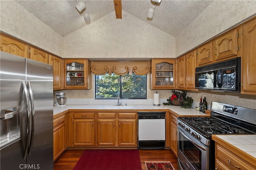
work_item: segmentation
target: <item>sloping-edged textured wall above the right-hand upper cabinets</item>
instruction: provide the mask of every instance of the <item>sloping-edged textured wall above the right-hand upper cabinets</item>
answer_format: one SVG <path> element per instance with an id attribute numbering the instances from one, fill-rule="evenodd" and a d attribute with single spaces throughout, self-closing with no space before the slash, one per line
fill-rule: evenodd
<path id="1" fill-rule="evenodd" d="M 176 37 L 176 57 L 256 14 L 256 0 L 214 0 Z"/>

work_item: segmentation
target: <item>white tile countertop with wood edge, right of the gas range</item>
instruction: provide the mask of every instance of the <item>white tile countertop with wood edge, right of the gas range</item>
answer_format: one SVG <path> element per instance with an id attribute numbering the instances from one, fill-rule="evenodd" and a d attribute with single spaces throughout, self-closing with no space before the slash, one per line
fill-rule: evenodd
<path id="1" fill-rule="evenodd" d="M 212 139 L 220 145 L 230 144 L 235 149 L 256 158 L 256 135 L 212 135 Z"/>

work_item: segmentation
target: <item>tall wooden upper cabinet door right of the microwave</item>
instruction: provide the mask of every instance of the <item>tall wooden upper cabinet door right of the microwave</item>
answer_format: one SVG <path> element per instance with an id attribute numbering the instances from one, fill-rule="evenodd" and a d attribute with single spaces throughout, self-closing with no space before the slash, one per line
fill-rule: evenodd
<path id="1" fill-rule="evenodd" d="M 256 19 L 242 25 L 241 93 L 256 94 Z"/>

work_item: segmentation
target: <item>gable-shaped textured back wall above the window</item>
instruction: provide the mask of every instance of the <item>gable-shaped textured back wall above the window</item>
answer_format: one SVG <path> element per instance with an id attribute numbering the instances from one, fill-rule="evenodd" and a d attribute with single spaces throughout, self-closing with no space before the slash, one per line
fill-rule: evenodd
<path id="1" fill-rule="evenodd" d="M 175 38 L 122 11 L 115 12 L 66 35 L 62 57 L 175 58 Z"/>

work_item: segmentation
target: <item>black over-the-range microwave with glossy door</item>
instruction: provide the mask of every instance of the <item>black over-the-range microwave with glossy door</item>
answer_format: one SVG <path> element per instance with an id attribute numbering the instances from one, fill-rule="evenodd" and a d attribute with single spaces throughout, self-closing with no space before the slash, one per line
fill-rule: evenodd
<path id="1" fill-rule="evenodd" d="M 196 67 L 196 88 L 223 92 L 241 91 L 241 57 Z"/>

